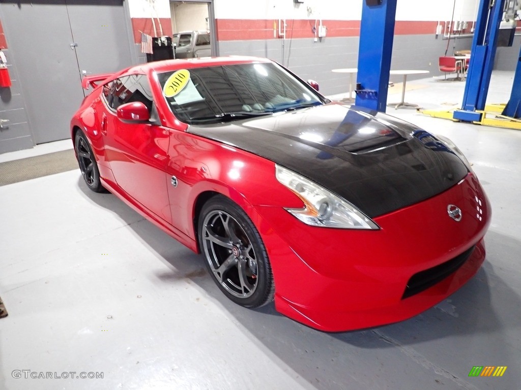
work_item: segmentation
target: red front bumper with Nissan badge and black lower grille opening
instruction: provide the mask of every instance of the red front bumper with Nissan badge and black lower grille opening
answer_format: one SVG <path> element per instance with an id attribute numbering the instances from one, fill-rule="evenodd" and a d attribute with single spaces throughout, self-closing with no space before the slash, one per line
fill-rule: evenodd
<path id="1" fill-rule="evenodd" d="M 448 215 L 449 204 L 461 209 L 460 222 Z M 380 230 L 311 227 L 280 207 L 255 210 L 274 274 L 277 310 L 323 331 L 401 321 L 442 301 L 483 263 L 482 238 L 491 217 L 473 174 L 435 197 L 375 218 Z M 412 281 L 420 287 L 422 278 L 435 284 L 407 294 L 415 275 Z"/>

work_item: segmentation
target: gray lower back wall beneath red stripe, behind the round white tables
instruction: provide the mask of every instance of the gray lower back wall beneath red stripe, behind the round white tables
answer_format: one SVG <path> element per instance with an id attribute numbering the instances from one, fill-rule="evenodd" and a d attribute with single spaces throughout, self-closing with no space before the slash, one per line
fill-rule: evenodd
<path id="1" fill-rule="evenodd" d="M 291 45 L 291 49 L 290 49 Z M 447 55 L 454 50 L 470 49 L 472 38 L 457 38 L 449 43 Z M 438 58 L 443 56 L 447 40 L 434 35 L 396 35 L 393 43 L 392 69 L 421 69 L 438 76 Z M 319 42 L 300 38 L 281 40 L 221 41 L 221 56 L 247 55 L 267 57 L 277 61 L 304 80 L 313 79 L 325 95 L 339 94 L 348 90 L 349 75 L 332 73 L 336 68 L 356 68 L 358 65 L 358 37 L 325 37 Z M 282 53 L 284 52 L 284 55 Z M 289 61 L 288 61 L 289 57 Z M 401 76 L 391 81 L 400 82 Z M 425 75 L 416 76 L 416 79 Z M 414 76 L 407 80 L 414 80 Z"/>

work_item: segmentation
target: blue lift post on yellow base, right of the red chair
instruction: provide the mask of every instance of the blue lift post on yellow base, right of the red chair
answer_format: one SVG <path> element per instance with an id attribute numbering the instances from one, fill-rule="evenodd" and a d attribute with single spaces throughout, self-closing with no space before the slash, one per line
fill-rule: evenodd
<path id="1" fill-rule="evenodd" d="M 504 4 L 505 0 L 481 0 L 479 4 L 472 61 L 468 68 L 462 109 L 454 111 L 453 118 L 456 120 L 481 121 L 483 113 L 476 110 L 485 109 Z"/>

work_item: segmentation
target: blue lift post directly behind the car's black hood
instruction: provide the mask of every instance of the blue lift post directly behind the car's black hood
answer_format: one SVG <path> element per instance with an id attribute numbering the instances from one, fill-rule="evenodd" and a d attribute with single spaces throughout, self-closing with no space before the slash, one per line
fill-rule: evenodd
<path id="1" fill-rule="evenodd" d="M 356 105 L 385 112 L 397 0 L 362 2 Z"/>

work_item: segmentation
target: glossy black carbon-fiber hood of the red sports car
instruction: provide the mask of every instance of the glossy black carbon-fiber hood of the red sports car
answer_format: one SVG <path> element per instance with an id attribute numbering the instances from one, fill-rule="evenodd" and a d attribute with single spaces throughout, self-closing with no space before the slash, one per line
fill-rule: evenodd
<path id="1" fill-rule="evenodd" d="M 191 125 L 188 132 L 287 167 L 371 218 L 435 196 L 468 173 L 431 134 L 389 115 L 338 103 Z"/>

